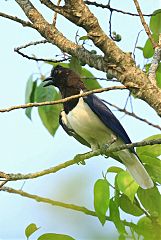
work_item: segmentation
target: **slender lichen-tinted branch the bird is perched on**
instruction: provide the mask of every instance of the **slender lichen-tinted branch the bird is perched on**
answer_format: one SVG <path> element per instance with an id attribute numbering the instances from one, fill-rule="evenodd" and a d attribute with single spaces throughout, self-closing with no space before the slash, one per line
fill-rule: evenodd
<path id="1" fill-rule="evenodd" d="M 74 159 L 66 161 L 64 163 L 61 163 L 55 167 L 51 167 L 49 169 L 42 170 L 40 172 L 36 173 L 27 173 L 27 174 L 14 174 L 14 173 L 4 173 L 0 172 L 0 178 L 7 181 L 17 181 L 17 180 L 24 180 L 24 179 L 33 179 L 38 178 L 50 173 L 56 173 L 64 168 L 67 168 L 71 165 L 74 165 L 76 163 L 83 163 L 85 160 L 91 159 L 92 157 L 98 156 L 98 155 L 104 155 L 104 156 L 110 156 L 111 153 L 117 152 L 123 149 L 131 149 L 134 147 L 141 147 L 141 146 L 147 146 L 147 145 L 156 145 L 161 144 L 161 139 L 156 140 L 149 140 L 149 141 L 141 141 L 131 144 L 123 144 L 117 147 L 113 147 L 112 145 L 110 147 L 103 147 L 103 149 L 98 149 L 96 151 L 87 152 L 84 154 L 78 154 L 74 157 Z"/>

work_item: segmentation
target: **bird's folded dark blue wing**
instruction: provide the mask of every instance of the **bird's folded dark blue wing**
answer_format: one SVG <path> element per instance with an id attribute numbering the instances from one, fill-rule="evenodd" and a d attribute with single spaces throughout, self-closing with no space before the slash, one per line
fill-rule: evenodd
<path id="1" fill-rule="evenodd" d="M 99 99 L 96 95 L 92 94 L 84 97 L 84 101 L 92 109 L 92 111 L 99 117 L 99 119 L 111 129 L 117 137 L 120 137 L 124 143 L 131 143 L 125 129 L 122 127 L 119 120 L 111 112 L 111 110 Z"/>

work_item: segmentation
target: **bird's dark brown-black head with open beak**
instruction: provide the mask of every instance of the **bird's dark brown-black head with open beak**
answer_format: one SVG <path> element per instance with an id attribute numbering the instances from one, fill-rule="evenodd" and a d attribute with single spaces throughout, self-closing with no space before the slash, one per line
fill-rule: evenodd
<path id="1" fill-rule="evenodd" d="M 44 87 L 54 85 L 59 88 L 61 93 L 66 89 L 80 90 L 85 88 L 80 77 L 74 71 L 60 65 L 53 67 L 50 77 L 46 78 L 44 82 L 46 82 Z"/>

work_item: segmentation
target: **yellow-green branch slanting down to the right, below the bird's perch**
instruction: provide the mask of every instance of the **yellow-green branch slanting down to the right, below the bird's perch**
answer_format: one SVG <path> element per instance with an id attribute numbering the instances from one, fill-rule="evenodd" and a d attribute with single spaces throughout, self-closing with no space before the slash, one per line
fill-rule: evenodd
<path id="1" fill-rule="evenodd" d="M 78 206 L 78 205 L 75 205 L 75 204 L 68 204 L 68 203 L 64 203 L 64 202 L 54 201 L 54 200 L 49 199 L 49 198 L 40 197 L 38 195 L 33 195 L 33 194 L 30 194 L 30 193 L 24 192 L 22 190 L 16 190 L 16 189 L 9 188 L 9 187 L 2 187 L 0 189 L 0 191 L 18 194 L 18 195 L 21 195 L 22 197 L 27 197 L 27 198 L 33 199 L 37 202 L 43 202 L 43 203 L 50 204 L 52 206 L 63 207 L 63 208 L 66 208 L 66 209 L 82 212 L 82 213 L 85 213 L 85 214 L 93 216 L 93 217 L 97 217 L 96 212 L 94 212 L 92 210 L 89 210 L 86 207 Z M 113 221 L 108 216 L 106 216 L 106 220 L 107 221 Z M 127 222 L 125 220 L 123 220 L 122 223 L 125 226 L 132 226 L 132 225 L 135 226 L 134 223 Z"/>

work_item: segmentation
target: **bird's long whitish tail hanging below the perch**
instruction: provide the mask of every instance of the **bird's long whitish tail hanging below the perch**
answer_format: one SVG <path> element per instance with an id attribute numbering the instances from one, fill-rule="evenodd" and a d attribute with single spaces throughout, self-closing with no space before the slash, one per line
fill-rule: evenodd
<path id="1" fill-rule="evenodd" d="M 127 149 L 122 150 L 119 152 L 119 157 L 141 188 L 148 189 L 154 186 L 151 177 L 134 153 L 129 152 Z"/>

